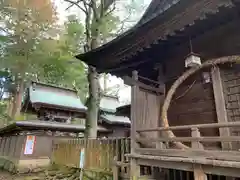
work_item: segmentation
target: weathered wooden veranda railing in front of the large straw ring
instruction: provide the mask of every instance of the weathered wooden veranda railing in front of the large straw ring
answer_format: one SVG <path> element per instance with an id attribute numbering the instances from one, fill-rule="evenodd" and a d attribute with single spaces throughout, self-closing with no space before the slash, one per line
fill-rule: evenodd
<path id="1" fill-rule="evenodd" d="M 191 131 L 190 137 L 159 137 L 159 138 L 136 138 L 138 143 L 144 144 L 144 142 L 155 142 L 156 148 L 136 148 L 136 153 L 141 155 L 152 155 L 152 156 L 167 156 L 166 161 L 184 161 L 184 162 L 196 162 L 201 164 L 212 164 L 219 166 L 229 166 L 229 161 L 238 163 L 231 163 L 231 165 L 240 168 L 240 152 L 239 148 L 232 148 L 232 143 L 240 142 L 240 136 L 201 136 L 201 130 L 207 128 L 236 128 L 240 127 L 240 122 L 229 122 L 229 123 L 213 123 L 213 124 L 198 124 L 198 125 L 185 125 L 185 126 L 174 126 L 174 127 L 157 127 L 149 129 L 138 129 L 137 132 L 162 132 L 164 131 Z M 187 149 L 177 149 L 171 144 L 173 142 L 189 143 L 190 147 Z M 216 149 L 206 149 L 203 146 L 204 143 L 221 143 L 224 147 L 224 143 L 228 143 L 229 149 L 224 149 L 219 146 Z M 157 145 L 158 144 L 158 145 Z M 172 158 L 174 157 L 174 159 Z M 156 157 L 154 157 L 156 158 Z M 160 158 L 160 157 L 159 157 Z M 161 159 L 160 158 L 160 159 Z M 197 159 L 196 159 L 197 158 Z M 213 161 L 214 160 L 214 161 Z M 228 161 L 228 162 L 223 162 Z"/>

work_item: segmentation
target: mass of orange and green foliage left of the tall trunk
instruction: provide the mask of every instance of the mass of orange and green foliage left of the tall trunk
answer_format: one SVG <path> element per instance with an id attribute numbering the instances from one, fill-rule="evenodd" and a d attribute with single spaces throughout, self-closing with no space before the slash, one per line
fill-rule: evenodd
<path id="1" fill-rule="evenodd" d="M 11 92 L 16 91 L 19 80 L 25 84 L 35 80 L 74 87 L 86 96 L 85 67 L 72 60 L 81 51 L 84 38 L 83 25 L 76 16 L 69 16 L 62 28 L 55 23 L 51 1 L 10 0 L 0 2 L 0 18 L 4 32 L 0 36 L 0 66 L 11 72 L 15 84 Z"/>

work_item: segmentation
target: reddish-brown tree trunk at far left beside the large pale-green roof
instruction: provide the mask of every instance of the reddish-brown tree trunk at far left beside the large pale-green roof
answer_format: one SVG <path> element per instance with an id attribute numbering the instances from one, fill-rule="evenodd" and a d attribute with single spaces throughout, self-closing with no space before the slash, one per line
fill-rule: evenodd
<path id="1" fill-rule="evenodd" d="M 11 113 L 11 118 L 13 120 L 15 120 L 20 115 L 23 90 L 24 90 L 24 81 L 23 79 L 20 79 L 18 83 L 18 87 L 16 88 L 16 91 L 13 95 L 13 104 L 12 104 L 12 113 Z"/>

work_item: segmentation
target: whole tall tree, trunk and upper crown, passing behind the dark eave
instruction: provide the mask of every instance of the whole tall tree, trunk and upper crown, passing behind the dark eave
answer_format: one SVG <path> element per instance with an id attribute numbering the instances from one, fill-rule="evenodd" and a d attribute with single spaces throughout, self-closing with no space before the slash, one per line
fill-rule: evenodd
<path id="1" fill-rule="evenodd" d="M 121 18 L 119 14 L 114 14 L 116 10 L 116 0 L 65 1 L 70 3 L 69 7 L 76 6 L 79 8 L 79 11 L 85 15 L 85 41 L 83 43 L 85 52 L 96 49 L 98 46 L 105 44 L 107 41 L 119 35 L 118 32 L 122 32 Z M 118 31 L 119 28 L 120 31 Z M 97 122 L 102 91 L 99 82 L 100 76 L 98 76 L 94 68 L 88 67 L 87 77 L 89 82 L 89 96 L 86 102 L 88 113 L 85 124 L 85 136 L 86 138 L 93 138 L 97 136 Z M 105 90 L 106 88 L 104 86 L 104 91 Z"/>

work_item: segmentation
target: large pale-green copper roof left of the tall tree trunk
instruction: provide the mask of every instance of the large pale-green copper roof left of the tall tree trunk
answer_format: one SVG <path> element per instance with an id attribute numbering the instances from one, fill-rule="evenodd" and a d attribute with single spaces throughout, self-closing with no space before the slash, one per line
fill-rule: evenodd
<path id="1" fill-rule="evenodd" d="M 76 91 L 39 82 L 32 82 L 29 86 L 23 105 L 27 106 L 28 102 L 32 105 L 37 104 L 54 109 L 60 108 L 77 112 L 86 112 L 87 110 Z"/>

